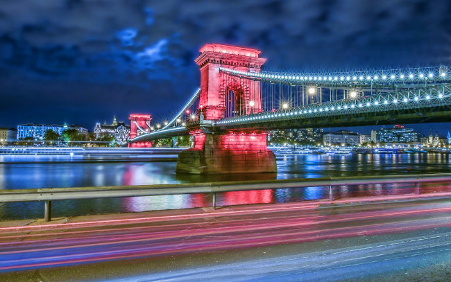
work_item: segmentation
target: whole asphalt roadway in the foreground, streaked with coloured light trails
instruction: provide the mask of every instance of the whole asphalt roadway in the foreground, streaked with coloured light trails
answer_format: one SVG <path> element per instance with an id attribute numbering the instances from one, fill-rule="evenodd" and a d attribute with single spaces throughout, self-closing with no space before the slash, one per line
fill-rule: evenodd
<path id="1" fill-rule="evenodd" d="M 447 281 L 450 212 L 400 196 L 0 222 L 0 281 Z"/>

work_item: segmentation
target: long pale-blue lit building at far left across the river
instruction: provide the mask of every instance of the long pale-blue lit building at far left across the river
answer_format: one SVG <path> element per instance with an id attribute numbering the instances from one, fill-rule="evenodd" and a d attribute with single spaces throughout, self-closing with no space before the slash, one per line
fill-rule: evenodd
<path id="1" fill-rule="evenodd" d="M 58 125 L 58 124 L 34 124 L 26 123 L 17 125 L 17 140 L 32 137 L 33 140 L 42 141 L 47 130 L 53 130 L 58 134 L 62 134 L 65 130 L 77 130 L 80 134 L 87 134 L 87 129 L 81 125 Z"/>

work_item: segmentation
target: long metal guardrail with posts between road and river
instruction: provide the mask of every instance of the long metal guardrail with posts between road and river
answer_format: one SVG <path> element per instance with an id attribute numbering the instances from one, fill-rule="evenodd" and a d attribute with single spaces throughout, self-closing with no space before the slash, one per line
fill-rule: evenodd
<path id="1" fill-rule="evenodd" d="M 200 184 L 162 184 L 142 186 L 100 186 L 75 188 L 37 188 L 0 191 L 0 202 L 45 201 L 44 220 L 51 220 L 51 201 L 80 200 L 107 197 L 139 197 L 211 193 L 216 208 L 216 193 L 282 188 L 329 187 L 329 200 L 333 200 L 333 187 L 343 185 L 414 183 L 419 193 L 421 182 L 451 182 L 451 173 L 431 175 L 389 175 L 372 177 L 322 177 L 244 182 L 211 182 Z"/>

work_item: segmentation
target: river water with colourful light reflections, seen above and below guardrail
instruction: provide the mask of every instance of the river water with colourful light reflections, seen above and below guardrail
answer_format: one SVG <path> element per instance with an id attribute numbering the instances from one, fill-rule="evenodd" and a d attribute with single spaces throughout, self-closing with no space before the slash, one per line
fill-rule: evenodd
<path id="1" fill-rule="evenodd" d="M 81 186 L 122 186 L 174 184 L 187 182 L 237 181 L 252 179 L 290 179 L 327 176 L 402 175 L 448 173 L 448 154 L 381 155 L 277 155 L 278 173 L 216 175 L 201 177 L 176 175 L 176 153 L 110 156 L 0 156 L 0 189 L 53 188 Z M 339 186 L 334 197 L 394 195 L 413 193 L 411 184 Z M 443 184 L 425 184 L 422 191 L 451 191 Z M 327 198 L 327 188 L 273 189 L 221 193 L 218 205 L 296 202 Z M 203 194 L 153 197 L 124 197 L 96 200 L 52 202 L 53 217 L 185 209 L 211 206 Z M 0 203 L 0 220 L 42 218 L 42 202 Z"/>

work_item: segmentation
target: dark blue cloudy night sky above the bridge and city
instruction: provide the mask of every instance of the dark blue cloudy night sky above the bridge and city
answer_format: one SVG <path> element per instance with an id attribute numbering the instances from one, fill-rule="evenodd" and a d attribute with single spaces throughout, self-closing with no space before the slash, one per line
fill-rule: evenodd
<path id="1" fill-rule="evenodd" d="M 257 48 L 266 70 L 451 65 L 450 23 L 445 0 L 1 0 L 0 127 L 169 119 L 206 43 Z"/>

